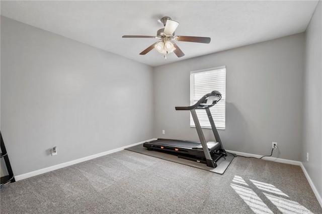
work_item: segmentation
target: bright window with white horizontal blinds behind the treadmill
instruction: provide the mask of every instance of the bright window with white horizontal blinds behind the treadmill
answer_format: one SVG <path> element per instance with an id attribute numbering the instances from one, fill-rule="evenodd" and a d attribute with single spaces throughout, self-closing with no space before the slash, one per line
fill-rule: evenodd
<path id="1" fill-rule="evenodd" d="M 212 118 L 217 129 L 225 129 L 226 108 L 226 66 L 209 68 L 190 73 L 190 104 L 195 104 L 203 95 L 217 90 L 221 93 L 221 99 L 210 108 Z M 200 126 L 210 128 L 205 110 L 196 110 Z M 190 127 L 195 127 L 190 115 Z"/>

